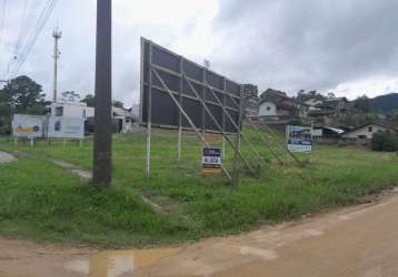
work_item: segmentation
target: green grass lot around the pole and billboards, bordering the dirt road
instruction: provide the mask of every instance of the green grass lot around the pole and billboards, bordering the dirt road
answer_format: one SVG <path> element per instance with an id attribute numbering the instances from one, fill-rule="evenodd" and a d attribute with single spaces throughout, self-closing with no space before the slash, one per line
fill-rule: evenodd
<path id="1" fill-rule="evenodd" d="M 250 130 L 247 134 L 272 160 Z M 240 184 L 230 195 L 225 176 L 200 173 L 201 145 L 190 136 L 183 140 L 182 161 L 178 163 L 177 135 L 155 133 L 149 178 L 145 174 L 145 134 L 116 136 L 110 191 L 90 188 L 86 181 L 49 162 L 56 158 L 90 168 L 90 142 L 82 147 L 72 143 L 49 146 L 44 142 L 30 147 L 1 141 L 1 151 L 29 155 L 0 165 L 0 234 L 111 248 L 169 245 L 241 233 L 261 224 L 356 204 L 394 187 L 398 179 L 398 157 L 394 153 L 316 146 L 312 162 L 305 167 L 296 166 L 285 155 L 283 161 L 290 161 L 285 166 L 261 163 L 258 178 L 240 168 Z M 215 140 L 219 137 L 211 138 L 212 145 L 220 145 Z M 256 156 L 246 144 L 242 152 L 255 165 Z M 228 168 L 232 154 L 227 147 Z M 142 195 L 167 213 L 153 209 Z"/>

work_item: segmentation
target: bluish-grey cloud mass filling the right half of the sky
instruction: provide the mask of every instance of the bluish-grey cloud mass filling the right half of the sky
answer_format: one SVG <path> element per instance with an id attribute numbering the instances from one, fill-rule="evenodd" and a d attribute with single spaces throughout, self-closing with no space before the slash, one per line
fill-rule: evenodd
<path id="1" fill-rule="evenodd" d="M 397 74 L 397 1 L 221 0 L 215 24 L 225 42 L 218 52 L 223 54 L 215 57 L 228 68 L 228 55 L 238 54 L 237 78 L 292 93 L 327 92 L 341 83 Z M 358 93 L 346 91 L 351 98 Z"/>

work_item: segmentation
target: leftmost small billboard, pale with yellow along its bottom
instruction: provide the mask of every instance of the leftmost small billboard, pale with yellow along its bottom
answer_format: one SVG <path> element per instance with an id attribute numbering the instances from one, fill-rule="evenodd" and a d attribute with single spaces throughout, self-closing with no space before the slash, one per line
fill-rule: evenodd
<path id="1" fill-rule="evenodd" d="M 36 138 L 43 135 L 43 120 L 40 115 L 14 114 L 12 134 L 16 137 Z"/>

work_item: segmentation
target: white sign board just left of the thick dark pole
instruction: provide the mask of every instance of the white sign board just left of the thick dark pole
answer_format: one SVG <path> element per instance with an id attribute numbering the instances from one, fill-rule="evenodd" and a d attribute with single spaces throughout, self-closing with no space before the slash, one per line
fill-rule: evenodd
<path id="1" fill-rule="evenodd" d="M 84 120 L 50 117 L 48 136 L 53 138 L 84 138 Z"/>

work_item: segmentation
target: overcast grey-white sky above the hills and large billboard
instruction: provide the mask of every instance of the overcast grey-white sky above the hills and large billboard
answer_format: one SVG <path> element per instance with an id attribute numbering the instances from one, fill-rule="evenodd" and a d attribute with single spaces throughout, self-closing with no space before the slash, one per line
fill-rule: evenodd
<path id="1" fill-rule="evenodd" d="M 23 45 L 48 2 L 0 0 L 0 9 L 3 1 L 0 79 L 19 33 Z M 212 70 L 260 91 L 318 90 L 350 99 L 398 92 L 397 0 L 113 0 L 113 96 L 127 105 L 139 102 L 140 37 L 198 63 L 210 60 Z M 58 25 L 59 90 L 93 93 L 94 11 L 94 0 L 60 0 L 19 74 L 50 98 Z"/>

